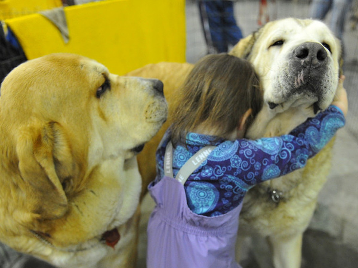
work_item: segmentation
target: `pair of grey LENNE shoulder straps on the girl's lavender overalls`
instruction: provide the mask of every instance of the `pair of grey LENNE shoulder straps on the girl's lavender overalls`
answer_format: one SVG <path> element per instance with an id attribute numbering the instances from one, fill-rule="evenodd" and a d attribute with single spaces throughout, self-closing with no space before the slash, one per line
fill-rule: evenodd
<path id="1" fill-rule="evenodd" d="M 196 152 L 189 160 L 183 165 L 183 167 L 176 174 L 175 179 L 178 180 L 181 184 L 187 181 L 189 176 L 197 169 L 207 158 L 208 155 L 214 150 L 216 146 L 205 146 Z M 168 177 L 173 176 L 173 145 L 169 141 L 166 145 L 165 155 L 164 155 L 164 175 Z"/>

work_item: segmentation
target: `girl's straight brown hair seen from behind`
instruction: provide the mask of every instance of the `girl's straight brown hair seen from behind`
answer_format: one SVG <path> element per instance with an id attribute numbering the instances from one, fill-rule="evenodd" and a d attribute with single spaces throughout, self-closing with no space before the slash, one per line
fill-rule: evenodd
<path id="1" fill-rule="evenodd" d="M 225 138 L 248 109 L 252 113 L 246 127 L 262 108 L 259 79 L 252 65 L 228 54 L 200 59 L 176 93 L 171 109 L 173 144 L 185 144 L 187 133 L 199 124 Z"/>

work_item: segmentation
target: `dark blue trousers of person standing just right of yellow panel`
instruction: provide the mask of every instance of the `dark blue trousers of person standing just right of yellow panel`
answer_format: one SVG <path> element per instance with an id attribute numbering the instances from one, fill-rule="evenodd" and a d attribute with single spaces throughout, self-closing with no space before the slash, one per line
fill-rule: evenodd
<path id="1" fill-rule="evenodd" d="M 227 52 L 242 38 L 232 1 L 199 1 L 199 11 L 209 53 Z"/>

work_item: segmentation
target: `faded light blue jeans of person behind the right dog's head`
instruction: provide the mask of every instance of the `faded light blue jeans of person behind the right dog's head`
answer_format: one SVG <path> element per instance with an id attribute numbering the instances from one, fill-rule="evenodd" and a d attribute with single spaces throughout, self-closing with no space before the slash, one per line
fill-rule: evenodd
<path id="1" fill-rule="evenodd" d="M 313 0 L 310 17 L 323 20 L 328 11 L 332 10 L 332 18 L 328 26 L 335 36 L 342 40 L 345 19 L 351 4 L 352 0 Z"/>

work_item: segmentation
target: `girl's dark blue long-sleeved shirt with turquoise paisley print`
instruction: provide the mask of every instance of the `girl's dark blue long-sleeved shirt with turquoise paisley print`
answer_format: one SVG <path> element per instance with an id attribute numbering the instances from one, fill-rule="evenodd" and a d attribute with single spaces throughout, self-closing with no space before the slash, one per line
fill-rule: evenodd
<path id="1" fill-rule="evenodd" d="M 209 217 L 224 214 L 237 207 L 254 185 L 304 167 L 344 124 L 342 112 L 331 105 L 280 137 L 227 141 L 188 133 L 187 145 L 178 145 L 173 151 L 174 177 L 199 149 L 216 145 L 207 160 L 190 175 L 184 188 L 188 206 L 194 213 Z M 163 160 L 169 140 L 170 129 L 156 153 L 156 181 L 164 176 Z"/>

